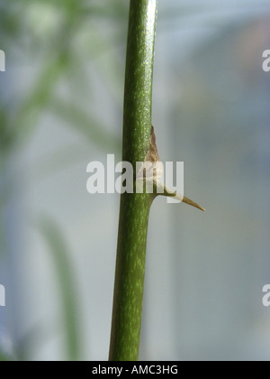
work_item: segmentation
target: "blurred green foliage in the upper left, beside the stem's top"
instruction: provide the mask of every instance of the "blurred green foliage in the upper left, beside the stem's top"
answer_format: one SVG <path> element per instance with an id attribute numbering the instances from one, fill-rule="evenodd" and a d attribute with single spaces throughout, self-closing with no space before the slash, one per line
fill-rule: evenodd
<path id="1" fill-rule="evenodd" d="M 4 1 L 0 13 L 0 45 L 7 55 L 9 67 L 13 61 L 32 61 L 35 79 L 27 94 L 7 94 L 1 104 L 1 152 L 28 138 L 42 113 L 66 116 L 63 107 L 67 99 L 58 95 L 59 87 L 69 87 L 72 121 L 69 125 L 90 135 L 103 147 L 119 145 L 119 137 L 108 135 L 101 122 L 96 123 L 91 113 L 80 109 L 82 97 L 91 99 L 91 82 L 85 70 L 90 62 L 110 49 L 122 45 L 126 25 L 127 5 L 122 1 Z M 102 33 L 103 23 L 112 25 L 110 42 Z M 91 63 L 91 64 L 92 64 Z M 106 75 L 115 78 L 112 72 Z M 102 69 L 99 66 L 99 69 Z M 103 75 L 103 73 L 101 73 Z M 85 80 L 86 79 L 86 80 Z M 4 87 L 4 86 L 3 86 Z M 3 90 L 4 88 L 2 88 Z M 55 98 L 56 97 L 56 98 Z"/>

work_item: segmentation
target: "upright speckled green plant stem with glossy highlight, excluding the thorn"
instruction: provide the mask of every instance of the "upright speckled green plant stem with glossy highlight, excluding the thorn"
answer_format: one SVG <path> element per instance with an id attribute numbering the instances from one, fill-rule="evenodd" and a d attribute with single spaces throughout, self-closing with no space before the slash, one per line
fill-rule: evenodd
<path id="1" fill-rule="evenodd" d="M 130 0 L 122 160 L 142 162 L 151 133 L 156 0 Z M 121 195 L 112 308 L 110 360 L 137 360 L 142 314 L 148 214 L 153 194 Z"/>

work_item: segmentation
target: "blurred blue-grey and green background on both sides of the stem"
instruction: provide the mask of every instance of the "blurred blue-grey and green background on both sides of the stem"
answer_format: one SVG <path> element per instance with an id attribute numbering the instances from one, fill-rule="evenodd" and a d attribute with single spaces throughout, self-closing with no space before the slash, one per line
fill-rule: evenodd
<path id="1" fill-rule="evenodd" d="M 86 166 L 121 161 L 128 0 L 1 0 L 0 355 L 106 360 L 119 195 Z M 141 360 L 268 360 L 268 0 L 159 0 L 152 119 L 184 194 L 155 200 Z M 161 221 L 162 220 L 162 221 Z"/>

